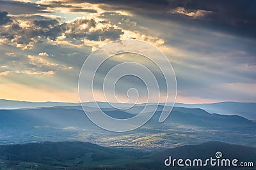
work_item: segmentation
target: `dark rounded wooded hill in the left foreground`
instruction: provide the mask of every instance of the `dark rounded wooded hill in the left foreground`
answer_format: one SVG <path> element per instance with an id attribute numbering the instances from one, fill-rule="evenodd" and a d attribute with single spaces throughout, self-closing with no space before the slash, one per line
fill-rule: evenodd
<path id="1" fill-rule="evenodd" d="M 115 159 L 122 154 L 116 150 L 83 142 L 44 142 L 0 146 L 0 159 L 51 164 L 90 156 L 92 160 Z"/>

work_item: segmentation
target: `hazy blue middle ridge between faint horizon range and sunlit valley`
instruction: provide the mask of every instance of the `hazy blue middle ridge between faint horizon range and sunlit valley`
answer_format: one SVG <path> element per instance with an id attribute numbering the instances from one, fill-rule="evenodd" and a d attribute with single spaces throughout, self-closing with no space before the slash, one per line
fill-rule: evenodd
<path id="1" fill-rule="evenodd" d="M 194 125 L 199 127 L 213 128 L 256 128 L 256 122 L 248 120 L 240 116 L 211 114 L 207 111 L 195 108 L 173 108 L 172 113 L 163 124 L 159 124 L 159 116 L 161 115 L 161 106 L 157 108 L 156 113 L 146 124 L 151 127 L 161 127 L 162 125 L 181 124 Z M 110 110 L 103 108 L 104 112 L 114 118 L 130 118 L 134 114 L 125 111 Z M 97 114 L 97 111 L 95 111 Z M 145 113 L 147 114 L 147 113 Z M 99 117 L 101 118 L 101 117 Z M 83 110 L 79 110 L 76 106 L 69 107 L 53 107 L 53 108 L 29 108 L 22 110 L 0 110 L 0 127 L 1 129 L 9 129 L 13 131 L 21 131 L 22 129 L 30 129 L 34 126 L 50 125 L 52 127 L 79 127 L 79 128 L 95 128 L 96 126 L 86 117 Z M 164 127 L 163 127 L 164 128 Z"/>

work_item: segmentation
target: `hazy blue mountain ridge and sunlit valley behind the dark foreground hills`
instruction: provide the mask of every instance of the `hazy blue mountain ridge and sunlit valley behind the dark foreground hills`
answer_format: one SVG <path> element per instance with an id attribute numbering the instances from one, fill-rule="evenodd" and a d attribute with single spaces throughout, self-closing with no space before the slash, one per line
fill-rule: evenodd
<path id="1" fill-rule="evenodd" d="M 102 110 L 114 118 L 130 118 L 141 108 L 143 106 L 122 111 L 113 108 Z M 95 108 L 91 108 L 95 111 L 93 109 Z M 211 114 L 198 108 L 175 107 L 166 121 L 160 124 L 159 116 L 162 109 L 163 106 L 157 106 L 156 113 L 147 124 L 136 131 L 122 134 L 97 127 L 86 117 L 81 106 L 0 110 L 0 144 L 78 140 L 104 146 L 154 150 L 220 140 L 256 146 L 256 122 L 252 120 L 237 115 Z"/>

